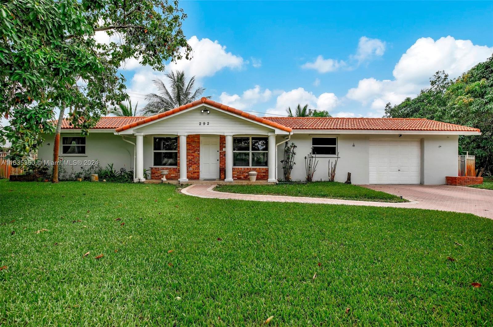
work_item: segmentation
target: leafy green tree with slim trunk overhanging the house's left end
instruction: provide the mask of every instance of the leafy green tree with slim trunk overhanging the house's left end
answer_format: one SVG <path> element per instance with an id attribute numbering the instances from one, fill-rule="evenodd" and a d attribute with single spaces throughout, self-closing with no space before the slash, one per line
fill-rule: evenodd
<path id="1" fill-rule="evenodd" d="M 170 2 L 171 1 L 171 2 Z M 181 30 L 177 0 L 11 0 L 0 4 L 0 129 L 19 159 L 42 144 L 59 110 L 53 159 L 68 109 L 71 124 L 87 135 L 107 105 L 125 100 L 118 68 L 129 58 L 162 71 L 164 62 L 191 48 Z M 110 37 L 99 42 L 96 32 Z M 58 165 L 53 167 L 58 182 Z"/>

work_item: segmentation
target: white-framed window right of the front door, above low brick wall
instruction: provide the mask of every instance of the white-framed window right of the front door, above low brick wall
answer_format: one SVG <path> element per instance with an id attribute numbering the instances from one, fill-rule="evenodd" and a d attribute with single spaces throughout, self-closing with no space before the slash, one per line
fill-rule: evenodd
<path id="1" fill-rule="evenodd" d="M 267 167 L 268 138 L 234 137 L 233 166 Z"/>

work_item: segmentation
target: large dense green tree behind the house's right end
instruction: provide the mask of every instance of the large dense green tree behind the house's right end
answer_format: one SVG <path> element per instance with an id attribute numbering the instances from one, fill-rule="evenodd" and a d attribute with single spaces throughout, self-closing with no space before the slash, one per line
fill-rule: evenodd
<path id="1" fill-rule="evenodd" d="M 476 156 L 476 167 L 493 173 L 493 56 L 455 80 L 437 72 L 431 87 L 416 98 L 386 106 L 387 117 L 428 118 L 479 128 L 480 136 L 460 136 L 462 151 Z"/>

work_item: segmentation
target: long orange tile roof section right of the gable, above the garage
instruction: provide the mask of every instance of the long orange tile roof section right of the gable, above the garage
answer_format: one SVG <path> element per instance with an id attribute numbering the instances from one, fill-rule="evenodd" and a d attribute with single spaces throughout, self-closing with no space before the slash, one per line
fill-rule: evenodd
<path id="1" fill-rule="evenodd" d="M 451 131 L 480 132 L 479 129 L 425 118 L 317 118 L 264 117 L 270 121 L 297 129 L 320 130 L 381 130 L 381 131 Z"/>

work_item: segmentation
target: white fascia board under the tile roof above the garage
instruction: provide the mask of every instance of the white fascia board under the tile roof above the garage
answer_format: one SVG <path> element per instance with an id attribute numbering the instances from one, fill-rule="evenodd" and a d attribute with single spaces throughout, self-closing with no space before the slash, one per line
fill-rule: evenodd
<path id="1" fill-rule="evenodd" d="M 402 134 L 402 135 L 481 135 L 481 132 L 458 131 L 393 131 L 347 129 L 293 129 L 293 134 Z"/>

